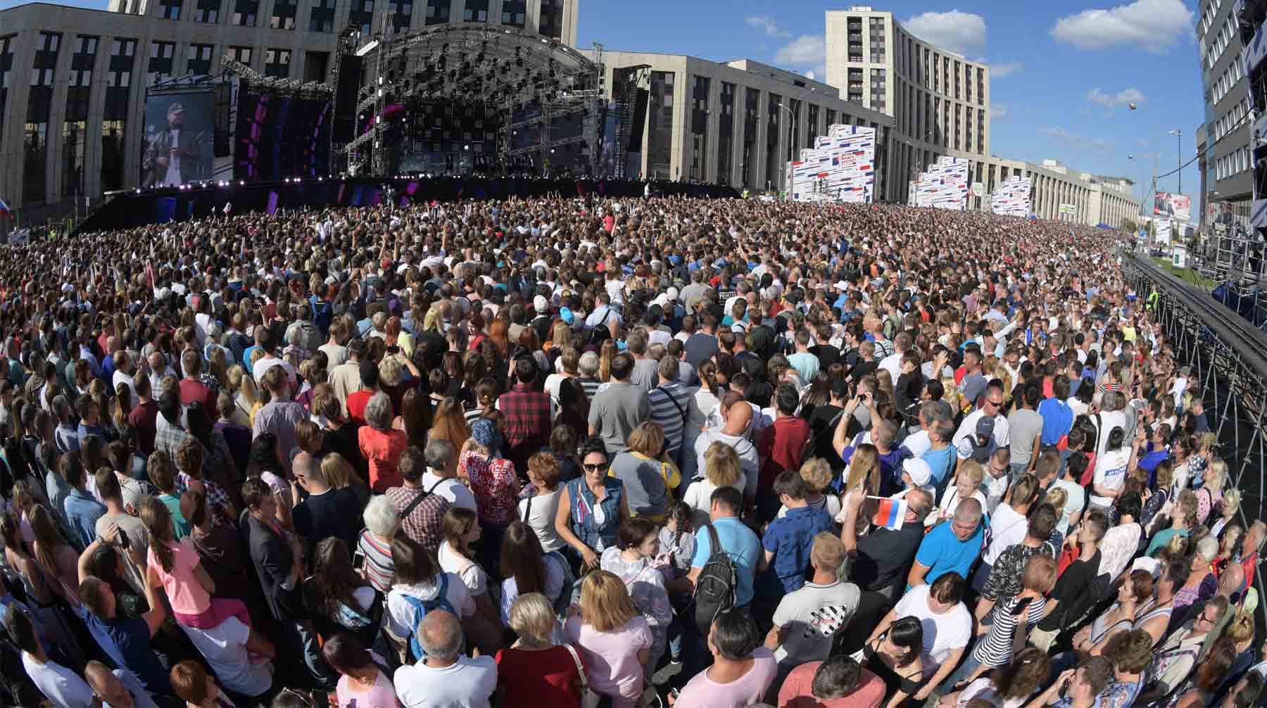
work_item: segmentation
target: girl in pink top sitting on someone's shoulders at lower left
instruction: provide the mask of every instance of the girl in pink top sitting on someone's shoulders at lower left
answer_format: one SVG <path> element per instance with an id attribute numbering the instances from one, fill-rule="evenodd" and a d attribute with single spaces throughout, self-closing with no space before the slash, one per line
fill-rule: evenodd
<path id="1" fill-rule="evenodd" d="M 167 505 L 155 496 L 141 500 L 141 523 L 150 533 L 148 583 L 162 585 L 171 603 L 176 621 L 196 629 L 213 629 L 229 616 L 236 616 L 247 627 L 251 618 L 242 600 L 212 599 L 215 581 L 201 565 L 198 550 L 190 537 L 176 542 Z"/>

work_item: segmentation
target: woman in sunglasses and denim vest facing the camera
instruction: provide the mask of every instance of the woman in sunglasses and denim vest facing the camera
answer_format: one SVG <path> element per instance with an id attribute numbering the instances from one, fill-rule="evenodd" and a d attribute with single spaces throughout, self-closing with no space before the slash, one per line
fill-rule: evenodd
<path id="1" fill-rule="evenodd" d="M 555 515 L 555 531 L 568 542 L 566 551 L 584 570 L 598 567 L 602 552 L 616 545 L 616 532 L 630 518 L 625 484 L 607 476 L 607 446 L 592 437 L 582 450 L 582 476 L 564 486 Z"/>

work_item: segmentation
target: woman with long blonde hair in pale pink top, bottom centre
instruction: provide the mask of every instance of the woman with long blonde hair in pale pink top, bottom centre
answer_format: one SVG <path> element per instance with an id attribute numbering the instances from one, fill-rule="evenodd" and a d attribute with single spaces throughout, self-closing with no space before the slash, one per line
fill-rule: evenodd
<path id="1" fill-rule="evenodd" d="M 564 636 L 580 648 L 589 688 L 609 697 L 613 708 L 632 708 L 642 695 L 651 628 L 634 608 L 625 583 L 606 570 L 582 581 L 578 609 L 564 623 Z"/>

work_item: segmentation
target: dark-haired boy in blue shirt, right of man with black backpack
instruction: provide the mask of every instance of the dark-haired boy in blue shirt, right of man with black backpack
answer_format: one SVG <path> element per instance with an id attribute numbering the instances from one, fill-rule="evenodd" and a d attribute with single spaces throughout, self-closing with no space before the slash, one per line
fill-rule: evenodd
<path id="1" fill-rule="evenodd" d="M 813 537 L 820 531 L 834 531 L 834 528 L 826 510 L 806 503 L 808 485 L 801 477 L 801 472 L 796 470 L 779 472 L 774 479 L 774 493 L 788 512 L 765 528 L 765 536 L 761 538 L 765 553 L 759 570 L 767 572 L 768 580 L 777 580 L 783 593 L 792 593 L 805 585 L 805 569 L 810 567 Z"/>

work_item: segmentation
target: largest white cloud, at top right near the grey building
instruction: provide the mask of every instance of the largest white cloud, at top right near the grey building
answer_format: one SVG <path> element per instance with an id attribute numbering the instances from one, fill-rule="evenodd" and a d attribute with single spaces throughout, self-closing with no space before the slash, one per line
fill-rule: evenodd
<path id="1" fill-rule="evenodd" d="M 1192 23 L 1194 13 L 1183 0 L 1135 0 L 1060 18 L 1050 34 L 1079 49 L 1129 47 L 1161 54 L 1187 37 Z"/>

